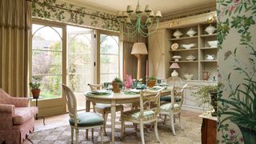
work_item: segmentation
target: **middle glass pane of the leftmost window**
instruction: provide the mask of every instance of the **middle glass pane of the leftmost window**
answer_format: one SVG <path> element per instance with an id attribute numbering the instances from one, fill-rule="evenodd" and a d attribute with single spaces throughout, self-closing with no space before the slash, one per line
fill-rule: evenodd
<path id="1" fill-rule="evenodd" d="M 62 74 L 62 53 L 52 51 L 32 51 L 32 75 Z"/>

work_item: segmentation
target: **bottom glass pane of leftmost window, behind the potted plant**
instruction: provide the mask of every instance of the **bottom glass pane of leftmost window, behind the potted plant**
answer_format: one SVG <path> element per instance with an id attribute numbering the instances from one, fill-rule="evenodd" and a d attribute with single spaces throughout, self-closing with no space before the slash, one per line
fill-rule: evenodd
<path id="1" fill-rule="evenodd" d="M 62 97 L 62 89 L 60 83 L 62 83 L 62 75 L 54 76 L 32 76 L 33 79 L 37 79 L 40 82 L 41 92 L 40 95 L 44 98 L 60 98 Z"/>

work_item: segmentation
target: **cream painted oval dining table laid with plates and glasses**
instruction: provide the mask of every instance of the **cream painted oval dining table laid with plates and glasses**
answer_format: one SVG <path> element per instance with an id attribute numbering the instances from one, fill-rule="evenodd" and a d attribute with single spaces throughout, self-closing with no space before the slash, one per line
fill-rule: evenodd
<path id="1" fill-rule="evenodd" d="M 161 96 L 166 96 L 170 94 L 170 90 L 162 90 Z M 118 104 L 127 104 L 133 102 L 139 102 L 140 94 L 125 94 L 125 92 L 113 93 L 110 94 L 89 94 L 85 93 L 86 96 L 86 112 L 90 111 L 90 102 L 95 103 L 104 103 L 111 105 L 111 143 L 114 143 L 115 135 L 115 116 L 116 116 L 116 105 Z M 149 95 L 150 96 L 150 95 Z M 88 130 L 86 130 L 86 138 L 88 138 Z"/>

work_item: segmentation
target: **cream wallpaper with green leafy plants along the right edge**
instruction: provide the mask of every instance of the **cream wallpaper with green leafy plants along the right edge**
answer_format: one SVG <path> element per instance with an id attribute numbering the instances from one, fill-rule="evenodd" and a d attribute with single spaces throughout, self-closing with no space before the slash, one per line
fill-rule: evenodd
<path id="1" fill-rule="evenodd" d="M 256 0 L 218 0 L 218 143 L 256 142 Z"/>

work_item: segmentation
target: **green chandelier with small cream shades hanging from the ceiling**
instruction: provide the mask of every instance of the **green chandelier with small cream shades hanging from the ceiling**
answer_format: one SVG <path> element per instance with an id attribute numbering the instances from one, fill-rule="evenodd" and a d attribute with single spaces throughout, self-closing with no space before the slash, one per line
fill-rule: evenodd
<path id="1" fill-rule="evenodd" d="M 127 33 L 123 32 L 124 34 L 134 37 L 137 34 L 141 34 L 143 37 L 147 37 L 150 34 L 153 34 L 157 29 L 158 29 L 158 24 L 159 24 L 159 19 L 162 17 L 161 11 L 158 10 L 156 14 L 154 15 L 154 11 L 151 10 L 149 5 L 146 5 L 145 8 L 145 13 L 146 13 L 146 21 L 142 22 L 142 7 L 139 5 L 139 0 L 138 0 L 138 5 L 135 10 L 136 14 L 136 19 L 133 20 L 132 18 L 132 13 L 134 10 L 132 10 L 132 6 L 127 6 L 126 11 L 118 11 L 118 24 L 122 24 L 126 27 Z M 156 21 L 157 26 L 155 29 L 148 33 L 147 30 L 152 26 L 154 19 Z"/>

